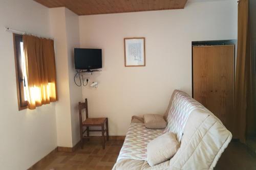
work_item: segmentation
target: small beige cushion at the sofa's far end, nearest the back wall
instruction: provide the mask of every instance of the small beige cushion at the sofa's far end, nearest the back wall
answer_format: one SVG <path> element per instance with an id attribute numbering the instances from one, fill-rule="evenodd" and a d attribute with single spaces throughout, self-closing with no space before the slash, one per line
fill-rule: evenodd
<path id="1" fill-rule="evenodd" d="M 148 129 L 163 129 L 167 125 L 163 116 L 159 114 L 144 114 L 144 123 Z"/>

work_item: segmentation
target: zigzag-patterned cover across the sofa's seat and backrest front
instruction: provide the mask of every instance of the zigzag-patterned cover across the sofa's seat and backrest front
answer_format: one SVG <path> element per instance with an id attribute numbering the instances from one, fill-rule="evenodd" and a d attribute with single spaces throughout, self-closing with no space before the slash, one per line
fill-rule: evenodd
<path id="1" fill-rule="evenodd" d="M 167 116 L 167 127 L 165 129 L 147 129 L 144 124 L 131 124 L 117 161 L 120 159 L 146 160 L 147 143 L 165 132 L 175 133 L 180 142 L 190 113 L 195 109 L 208 111 L 183 91 L 175 90 L 173 95 L 173 102 Z M 210 111 L 208 112 L 211 114 Z"/>

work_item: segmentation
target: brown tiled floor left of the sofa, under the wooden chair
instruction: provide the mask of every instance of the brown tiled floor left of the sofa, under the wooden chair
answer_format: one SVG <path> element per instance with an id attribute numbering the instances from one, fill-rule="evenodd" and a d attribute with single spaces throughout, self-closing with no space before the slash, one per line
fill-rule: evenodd
<path id="1" fill-rule="evenodd" d="M 103 150 L 101 140 L 91 139 L 84 141 L 83 149 L 79 146 L 73 153 L 56 152 L 34 169 L 111 170 L 122 144 L 123 140 L 110 140 Z"/>

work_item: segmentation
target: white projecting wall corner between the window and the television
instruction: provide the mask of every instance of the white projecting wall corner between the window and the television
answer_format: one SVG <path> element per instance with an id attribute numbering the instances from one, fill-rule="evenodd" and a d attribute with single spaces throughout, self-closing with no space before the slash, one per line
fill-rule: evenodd
<path id="1" fill-rule="evenodd" d="M 74 83 L 74 47 L 79 47 L 78 15 L 67 8 L 50 9 L 51 34 L 55 40 L 57 87 L 57 144 L 73 147 L 80 139 L 78 102 L 82 89 Z"/>

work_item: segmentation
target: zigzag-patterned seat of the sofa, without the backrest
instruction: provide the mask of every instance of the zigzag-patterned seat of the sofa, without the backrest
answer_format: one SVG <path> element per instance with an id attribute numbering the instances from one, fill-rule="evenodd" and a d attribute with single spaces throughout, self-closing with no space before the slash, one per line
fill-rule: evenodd
<path id="1" fill-rule="evenodd" d="M 122 149 L 119 153 L 119 159 L 146 160 L 147 143 L 163 134 L 164 129 L 147 129 L 144 124 L 131 124 Z"/>

